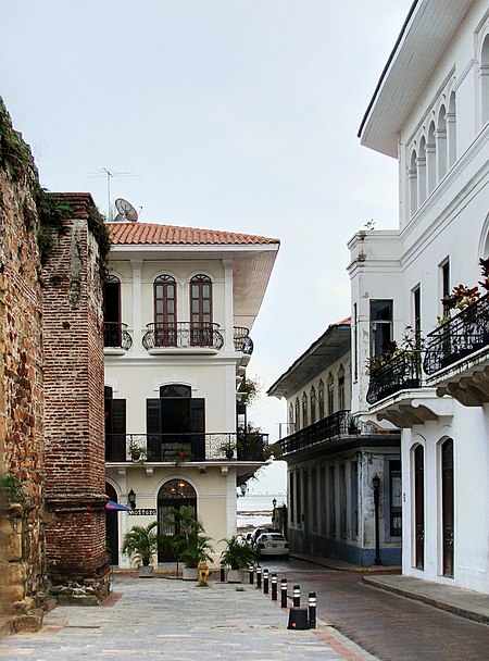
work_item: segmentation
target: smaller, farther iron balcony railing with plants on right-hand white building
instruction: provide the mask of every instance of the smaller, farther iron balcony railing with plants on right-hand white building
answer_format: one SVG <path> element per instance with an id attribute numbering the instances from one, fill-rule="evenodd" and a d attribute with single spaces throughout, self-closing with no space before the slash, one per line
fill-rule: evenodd
<path id="1" fill-rule="evenodd" d="M 421 372 L 421 351 L 401 351 L 371 374 L 367 402 L 375 404 L 400 390 L 419 388 Z"/>

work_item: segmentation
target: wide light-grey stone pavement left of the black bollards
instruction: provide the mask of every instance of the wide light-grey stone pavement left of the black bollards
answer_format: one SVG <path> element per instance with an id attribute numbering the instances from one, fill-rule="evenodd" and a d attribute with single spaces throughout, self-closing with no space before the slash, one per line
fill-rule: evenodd
<path id="1" fill-rule="evenodd" d="M 55 608 L 37 634 L 0 640 L 0 659 L 374 660 L 325 623 L 287 629 L 288 611 L 251 585 L 115 576 L 103 606 Z"/>

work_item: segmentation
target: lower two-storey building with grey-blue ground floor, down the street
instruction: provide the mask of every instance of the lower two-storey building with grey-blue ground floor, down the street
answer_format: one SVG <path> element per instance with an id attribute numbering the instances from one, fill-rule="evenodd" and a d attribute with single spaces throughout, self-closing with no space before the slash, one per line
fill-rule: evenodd
<path id="1" fill-rule="evenodd" d="M 288 539 L 294 553 L 401 563 L 400 435 L 350 414 L 350 319 L 328 326 L 269 387 L 284 398 Z"/>

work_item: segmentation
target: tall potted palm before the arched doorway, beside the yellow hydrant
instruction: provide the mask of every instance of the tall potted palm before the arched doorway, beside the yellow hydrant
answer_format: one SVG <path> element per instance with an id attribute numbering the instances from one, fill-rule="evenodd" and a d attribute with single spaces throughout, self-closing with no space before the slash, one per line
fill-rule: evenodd
<path id="1" fill-rule="evenodd" d="M 177 563 L 184 563 L 184 581 L 197 581 L 200 562 L 212 560 L 212 538 L 204 534 L 203 525 L 197 519 L 191 506 L 170 511 L 175 523 L 176 533 L 168 541 L 177 557 Z M 178 564 L 177 564 L 178 575 Z"/>

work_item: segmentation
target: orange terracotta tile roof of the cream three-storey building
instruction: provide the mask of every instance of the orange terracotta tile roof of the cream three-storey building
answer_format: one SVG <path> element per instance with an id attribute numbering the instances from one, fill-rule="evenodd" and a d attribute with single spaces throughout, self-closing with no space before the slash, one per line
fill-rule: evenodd
<path id="1" fill-rule="evenodd" d="M 221 232 L 198 229 L 197 227 L 176 227 L 155 223 L 108 223 L 111 241 L 114 245 L 208 245 L 244 246 L 258 244 L 279 244 L 279 239 Z"/>

